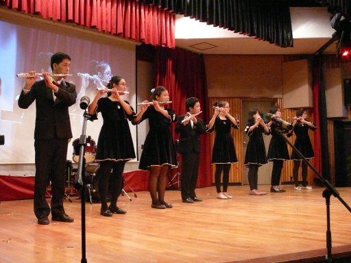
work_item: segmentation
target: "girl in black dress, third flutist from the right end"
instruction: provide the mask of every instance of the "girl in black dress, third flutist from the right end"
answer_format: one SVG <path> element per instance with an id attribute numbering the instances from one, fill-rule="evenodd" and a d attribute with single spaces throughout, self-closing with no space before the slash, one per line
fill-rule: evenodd
<path id="1" fill-rule="evenodd" d="M 263 118 L 261 118 L 261 114 L 257 109 L 250 110 L 245 133 L 250 137 L 250 140 L 247 143 L 244 162 L 244 166 L 249 168 L 249 195 L 265 195 L 267 192 L 257 189 L 257 174 L 258 167 L 268 163 L 265 142 L 263 141 L 262 134 L 265 133 L 266 135 L 269 135 L 269 129 L 263 122 Z"/>

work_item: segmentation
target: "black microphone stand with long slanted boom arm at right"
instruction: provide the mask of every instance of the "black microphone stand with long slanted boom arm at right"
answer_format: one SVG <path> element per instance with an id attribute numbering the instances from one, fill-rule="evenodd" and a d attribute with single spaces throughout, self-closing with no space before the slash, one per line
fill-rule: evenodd
<path id="1" fill-rule="evenodd" d="M 304 163 L 310 166 L 312 171 L 315 172 L 317 177 L 323 182 L 324 186 L 326 186 L 326 190 L 324 190 L 322 194 L 322 197 L 326 199 L 326 249 L 327 249 L 326 260 L 327 262 L 332 262 L 332 232 L 330 230 L 330 196 L 333 195 L 334 197 L 337 197 L 337 199 L 341 201 L 341 203 L 346 207 L 347 210 L 349 210 L 349 212 L 351 212 L 351 208 L 345 201 L 343 201 L 343 199 L 339 195 L 339 192 L 334 188 L 334 186 L 332 186 L 332 184 L 330 184 L 328 180 L 324 179 L 322 175 L 318 173 L 315 167 L 313 167 L 313 165 L 310 164 L 310 162 L 308 162 L 306 158 L 304 158 L 304 155 L 302 155 L 302 153 L 300 153 L 300 151 L 296 149 L 295 146 L 293 146 L 293 144 L 282 134 L 282 132 L 280 132 L 278 128 L 276 128 L 276 132 L 282 138 L 284 138 L 287 144 L 290 145 L 291 148 L 293 148 L 295 153 L 297 153 L 300 156 L 300 158 L 304 161 Z"/>

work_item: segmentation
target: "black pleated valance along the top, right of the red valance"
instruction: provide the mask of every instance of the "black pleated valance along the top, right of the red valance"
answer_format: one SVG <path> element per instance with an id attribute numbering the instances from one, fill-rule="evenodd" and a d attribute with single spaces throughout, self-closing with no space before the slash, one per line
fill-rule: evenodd
<path id="1" fill-rule="evenodd" d="M 293 47 L 289 6 L 284 0 L 140 1 L 280 47 Z"/>

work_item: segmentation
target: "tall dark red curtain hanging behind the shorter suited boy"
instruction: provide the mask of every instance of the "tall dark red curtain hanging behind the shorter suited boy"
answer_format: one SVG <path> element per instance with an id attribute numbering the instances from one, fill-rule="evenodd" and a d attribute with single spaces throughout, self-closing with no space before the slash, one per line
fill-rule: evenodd
<path id="1" fill-rule="evenodd" d="M 199 117 L 207 124 L 208 96 L 203 55 L 182 49 L 157 47 L 154 64 L 155 86 L 167 88 L 169 98 L 173 101 L 169 107 L 175 110 L 177 115 L 185 114 L 186 98 L 197 97 L 202 108 L 202 114 Z M 175 125 L 172 126 L 173 138 L 178 139 L 179 135 L 174 134 L 174 127 Z M 212 186 L 210 136 L 202 136 L 201 148 L 197 187 Z"/>

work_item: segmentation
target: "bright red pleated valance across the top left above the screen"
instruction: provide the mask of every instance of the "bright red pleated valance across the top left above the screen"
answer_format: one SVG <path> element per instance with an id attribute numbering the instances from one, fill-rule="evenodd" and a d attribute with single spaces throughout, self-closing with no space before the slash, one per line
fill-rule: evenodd
<path id="1" fill-rule="evenodd" d="M 145 44 L 175 47 L 175 14 L 138 0 L 0 0 L 0 4 Z"/>

